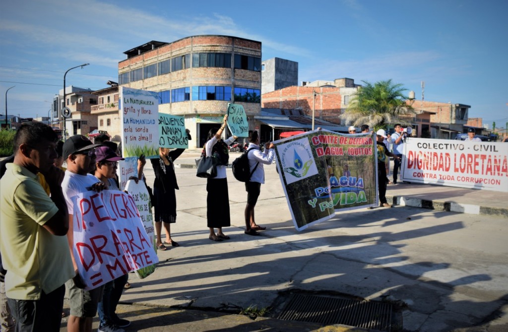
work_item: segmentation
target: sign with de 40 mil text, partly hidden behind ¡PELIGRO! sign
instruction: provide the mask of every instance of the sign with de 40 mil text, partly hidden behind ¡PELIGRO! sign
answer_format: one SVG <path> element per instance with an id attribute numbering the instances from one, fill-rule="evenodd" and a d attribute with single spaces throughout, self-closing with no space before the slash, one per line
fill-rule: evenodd
<path id="1" fill-rule="evenodd" d="M 143 226 L 145 227 L 146 234 L 150 239 L 149 242 L 152 244 L 153 250 L 156 252 L 155 247 L 155 229 L 153 228 L 153 215 L 152 205 L 150 203 L 150 195 L 146 189 L 146 184 L 143 180 L 139 180 L 138 183 L 134 180 L 129 180 L 125 186 L 125 190 L 133 197 L 138 208 L 139 216 Z M 136 275 L 143 279 L 149 276 L 155 271 L 155 264 L 136 270 Z"/>

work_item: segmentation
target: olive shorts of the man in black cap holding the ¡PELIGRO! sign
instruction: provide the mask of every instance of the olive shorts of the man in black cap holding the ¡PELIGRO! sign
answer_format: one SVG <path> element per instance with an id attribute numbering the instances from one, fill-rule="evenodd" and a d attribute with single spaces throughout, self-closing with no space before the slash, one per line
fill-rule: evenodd
<path id="1" fill-rule="evenodd" d="M 102 300 L 104 285 L 91 290 L 85 290 L 76 287 L 72 279 L 65 283 L 69 290 L 69 303 L 71 315 L 76 317 L 95 317 L 97 315 L 97 306 Z"/>

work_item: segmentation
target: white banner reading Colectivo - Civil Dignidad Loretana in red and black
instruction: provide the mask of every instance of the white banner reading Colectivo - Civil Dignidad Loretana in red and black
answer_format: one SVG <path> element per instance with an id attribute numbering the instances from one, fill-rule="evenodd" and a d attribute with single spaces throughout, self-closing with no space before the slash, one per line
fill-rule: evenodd
<path id="1" fill-rule="evenodd" d="M 508 144 L 408 138 L 402 180 L 508 192 Z"/>

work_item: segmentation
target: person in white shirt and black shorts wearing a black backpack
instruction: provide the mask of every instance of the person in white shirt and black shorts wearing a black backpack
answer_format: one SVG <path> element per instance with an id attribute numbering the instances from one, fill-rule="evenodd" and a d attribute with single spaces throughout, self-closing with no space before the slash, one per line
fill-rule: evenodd
<path id="1" fill-rule="evenodd" d="M 259 235 L 258 230 L 265 230 L 266 227 L 261 227 L 256 224 L 254 218 L 254 208 L 258 202 L 258 197 L 261 191 L 261 184 L 265 183 L 265 169 L 263 164 L 271 164 L 275 156 L 273 150 L 273 143 L 267 143 L 265 151 L 261 152 L 259 149 L 259 133 L 253 130 L 249 134 L 249 147 L 247 149 L 247 157 L 249 159 L 250 179 L 245 182 L 245 191 L 247 191 L 247 205 L 245 206 L 245 234 Z"/>

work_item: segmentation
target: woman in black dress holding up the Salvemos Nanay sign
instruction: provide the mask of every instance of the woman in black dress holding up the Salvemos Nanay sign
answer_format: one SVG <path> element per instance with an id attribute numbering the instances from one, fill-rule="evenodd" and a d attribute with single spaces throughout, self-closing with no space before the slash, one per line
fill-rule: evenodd
<path id="1" fill-rule="evenodd" d="M 185 129 L 188 140 L 190 138 L 190 130 Z M 162 243 L 161 231 L 162 225 L 166 229 L 166 244 L 173 247 L 180 245 L 171 239 L 170 225 L 176 222 L 176 194 L 175 189 L 178 188 L 176 183 L 174 160 L 178 158 L 185 149 L 170 150 L 169 148 L 159 148 L 159 157 L 150 159 L 153 172 L 155 173 L 155 181 L 153 182 L 153 196 L 155 198 L 155 235 L 157 240 L 155 245 L 158 250 L 165 251 L 167 248 Z"/>

